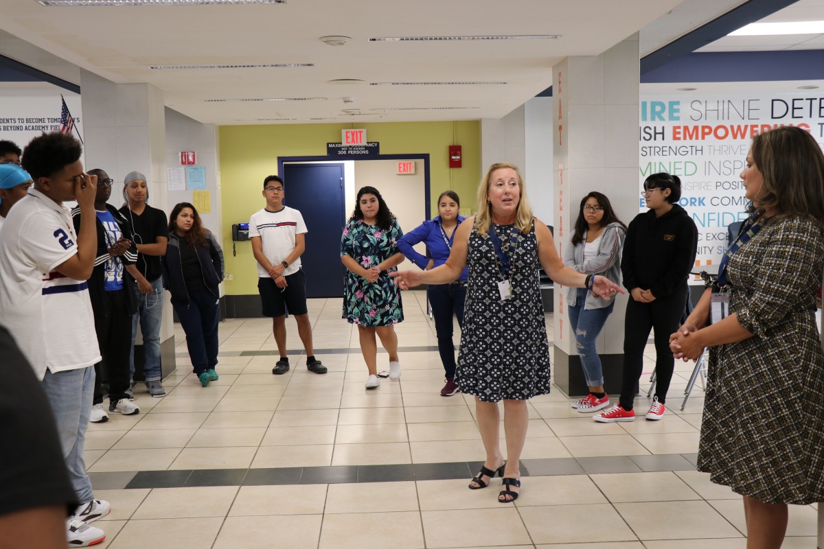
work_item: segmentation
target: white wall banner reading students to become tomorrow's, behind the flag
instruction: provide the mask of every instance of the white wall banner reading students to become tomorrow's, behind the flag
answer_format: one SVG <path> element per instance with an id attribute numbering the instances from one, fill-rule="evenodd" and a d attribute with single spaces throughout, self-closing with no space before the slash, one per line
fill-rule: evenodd
<path id="1" fill-rule="evenodd" d="M 74 125 L 83 134 L 80 95 L 56 86 L 0 88 L 0 139 L 21 149 L 41 133 L 60 131 L 60 113 L 66 100 Z M 77 137 L 77 132 L 72 135 Z"/>

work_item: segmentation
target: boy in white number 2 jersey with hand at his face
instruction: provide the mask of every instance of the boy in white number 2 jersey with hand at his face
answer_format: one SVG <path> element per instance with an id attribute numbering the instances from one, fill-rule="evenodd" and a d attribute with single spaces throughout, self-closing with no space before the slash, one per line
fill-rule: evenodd
<path id="1" fill-rule="evenodd" d="M 43 383 L 57 421 L 63 457 L 81 505 L 68 519 L 73 547 L 101 542 L 89 526 L 111 510 L 95 500 L 83 449 L 95 369 L 101 360 L 87 280 L 97 247 L 97 178 L 83 173 L 80 142 L 65 133 L 35 137 L 23 155 L 35 184 L 9 212 L 0 231 L 0 323 L 16 339 Z M 75 232 L 64 201 L 83 215 Z"/>

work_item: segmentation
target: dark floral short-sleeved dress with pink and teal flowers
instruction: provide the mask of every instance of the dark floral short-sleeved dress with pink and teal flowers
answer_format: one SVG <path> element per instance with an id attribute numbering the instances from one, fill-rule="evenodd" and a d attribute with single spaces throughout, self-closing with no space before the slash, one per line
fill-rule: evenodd
<path id="1" fill-rule="evenodd" d="M 400 252 L 397 242 L 403 234 L 397 220 L 392 220 L 389 230 L 361 220 L 349 221 L 340 239 L 340 255 L 349 255 L 361 267 L 372 268 Z M 395 271 L 396 267 L 384 271 L 377 282 L 370 283 L 347 270 L 342 318 L 362 326 L 391 326 L 403 322 L 400 289 L 389 277 L 389 273 Z"/>

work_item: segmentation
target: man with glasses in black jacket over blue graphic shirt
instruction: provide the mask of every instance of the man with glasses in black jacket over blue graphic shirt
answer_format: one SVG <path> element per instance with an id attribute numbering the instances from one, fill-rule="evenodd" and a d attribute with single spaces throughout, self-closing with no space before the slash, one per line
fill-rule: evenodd
<path id="1" fill-rule="evenodd" d="M 138 250 L 132 243 L 132 232 L 126 218 L 114 206 L 106 203 L 111 196 L 109 175 L 103 170 L 89 170 L 97 176 L 95 194 L 95 219 L 97 251 L 95 268 L 89 278 L 89 297 L 95 315 L 95 331 L 100 342 L 103 360 L 95 365 L 96 379 L 91 406 L 92 423 L 109 420 L 103 407 L 103 364 L 109 382 L 109 412 L 131 416 L 140 408 L 129 401 L 129 349 L 131 348 L 132 315 L 137 310 L 134 303 L 130 277 L 124 276 L 129 269 L 133 277 L 143 278 L 134 260 Z M 72 211 L 75 229 L 79 230 L 83 216 L 80 207 Z"/>

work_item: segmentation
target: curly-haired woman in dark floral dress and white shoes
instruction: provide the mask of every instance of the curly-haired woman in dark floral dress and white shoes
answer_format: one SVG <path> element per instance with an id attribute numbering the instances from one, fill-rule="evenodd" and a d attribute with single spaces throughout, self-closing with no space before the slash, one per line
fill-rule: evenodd
<path id="1" fill-rule="evenodd" d="M 397 244 L 403 234 L 377 188 L 361 188 L 340 239 L 340 260 L 349 269 L 344 280 L 343 318 L 358 326 L 361 352 L 369 370 L 366 388 L 381 384 L 377 377 L 376 334 L 389 353 L 389 379 L 400 379 L 394 325 L 403 322 L 404 309 L 400 290 L 389 273 L 404 260 Z"/>

